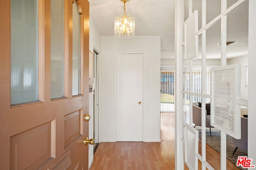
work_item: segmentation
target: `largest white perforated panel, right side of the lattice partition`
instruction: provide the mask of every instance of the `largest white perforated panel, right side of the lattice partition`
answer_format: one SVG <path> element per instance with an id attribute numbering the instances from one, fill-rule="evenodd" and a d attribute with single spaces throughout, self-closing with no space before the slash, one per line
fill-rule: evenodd
<path id="1" fill-rule="evenodd" d="M 228 135 L 240 138 L 240 66 L 212 68 L 211 125 Z"/>

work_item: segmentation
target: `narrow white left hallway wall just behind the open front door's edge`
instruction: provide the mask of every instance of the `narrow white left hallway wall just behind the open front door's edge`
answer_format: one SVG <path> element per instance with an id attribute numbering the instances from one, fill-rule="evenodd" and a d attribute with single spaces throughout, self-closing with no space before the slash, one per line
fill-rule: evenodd
<path id="1" fill-rule="evenodd" d="M 101 35 L 98 32 L 94 22 L 90 18 L 90 33 L 89 33 L 89 50 L 93 53 L 93 50 L 96 49 L 98 53 L 101 52 Z M 89 93 L 89 115 L 91 119 L 89 121 L 89 139 L 93 138 L 93 129 L 94 129 L 94 116 L 93 116 L 93 92 Z M 93 146 L 89 145 L 89 169 L 93 162 Z"/>

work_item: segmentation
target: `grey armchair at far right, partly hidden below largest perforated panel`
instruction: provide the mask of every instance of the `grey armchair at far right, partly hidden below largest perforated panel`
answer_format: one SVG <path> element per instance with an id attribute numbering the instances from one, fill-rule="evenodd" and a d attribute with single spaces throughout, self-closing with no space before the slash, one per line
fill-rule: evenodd
<path id="1" fill-rule="evenodd" d="M 241 139 L 235 139 L 232 137 L 232 142 L 236 146 L 233 154 L 238 148 L 242 150 L 248 150 L 248 118 L 241 117 Z M 232 155 L 233 155 L 232 154 Z"/>

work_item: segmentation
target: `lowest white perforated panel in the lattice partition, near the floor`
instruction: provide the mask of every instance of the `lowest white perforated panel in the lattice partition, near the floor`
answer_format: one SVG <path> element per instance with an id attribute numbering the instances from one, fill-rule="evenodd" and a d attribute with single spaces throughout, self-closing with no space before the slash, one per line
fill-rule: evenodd
<path id="1" fill-rule="evenodd" d="M 198 130 L 185 124 L 185 163 L 190 170 L 198 169 Z"/>

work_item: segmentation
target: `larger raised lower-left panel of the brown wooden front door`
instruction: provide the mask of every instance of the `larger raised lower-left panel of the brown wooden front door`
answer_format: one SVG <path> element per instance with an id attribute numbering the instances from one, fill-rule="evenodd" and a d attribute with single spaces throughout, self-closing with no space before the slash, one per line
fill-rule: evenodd
<path id="1" fill-rule="evenodd" d="M 36 169 L 55 157 L 55 121 L 39 125 L 10 139 L 10 169 Z"/>

